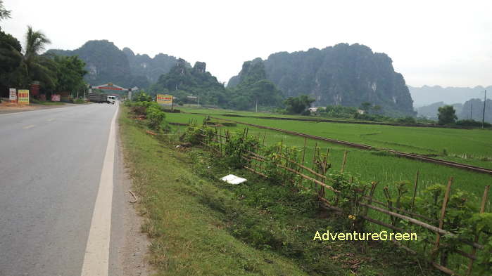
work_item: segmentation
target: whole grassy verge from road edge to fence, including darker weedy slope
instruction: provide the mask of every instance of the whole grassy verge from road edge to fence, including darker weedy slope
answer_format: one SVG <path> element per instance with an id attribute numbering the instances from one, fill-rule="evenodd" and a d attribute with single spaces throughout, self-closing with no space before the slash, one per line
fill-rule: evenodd
<path id="1" fill-rule="evenodd" d="M 201 150 L 177 151 L 146 134 L 127 110 L 119 119 L 125 162 L 157 275 L 436 275 L 384 242 L 366 254 L 357 253 L 356 243 L 313 242 L 315 230 L 343 230 L 343 222 L 317 209 L 309 195 L 214 166 Z M 225 173 L 248 183 L 218 181 Z"/>

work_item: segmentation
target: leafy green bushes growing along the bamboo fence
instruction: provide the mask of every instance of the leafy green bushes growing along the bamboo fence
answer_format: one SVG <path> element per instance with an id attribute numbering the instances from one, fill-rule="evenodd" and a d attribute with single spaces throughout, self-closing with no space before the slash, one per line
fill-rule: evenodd
<path id="1" fill-rule="evenodd" d="M 256 138 L 255 136 L 248 136 L 248 131 L 228 135 L 222 145 L 222 143 L 218 143 L 218 141 L 215 142 L 215 133 L 217 133 L 217 129 L 214 131 L 214 129 L 207 128 L 206 126 L 202 126 L 201 129 L 190 126 L 187 129 L 185 136 L 187 137 L 188 135 L 191 135 L 191 137 L 193 137 L 193 139 L 189 140 L 189 143 L 198 146 L 203 144 L 208 145 L 212 149 L 215 148 L 215 150 L 210 150 L 210 155 L 212 156 L 210 157 L 210 162 L 207 163 L 208 168 L 210 168 L 210 163 L 215 164 L 220 168 L 229 167 L 239 169 L 244 166 L 252 167 L 255 168 L 259 174 L 267 176 L 267 180 L 269 180 L 270 183 L 275 185 L 283 185 L 285 187 L 284 190 L 290 190 L 290 192 L 293 193 L 297 192 L 300 195 L 307 195 L 308 197 L 301 200 L 301 202 L 305 204 L 313 201 L 310 197 L 316 197 L 316 195 L 326 198 L 326 191 L 322 189 L 320 190 L 319 187 L 313 189 L 313 186 L 311 185 L 312 181 L 304 179 L 301 182 L 300 175 L 294 173 L 294 171 L 289 171 L 282 168 L 283 166 L 296 170 L 296 165 L 293 162 L 287 162 L 286 160 L 294 160 L 294 162 L 300 163 L 300 149 L 296 147 L 287 147 L 282 145 L 282 143 L 270 147 L 263 147 L 260 145 L 259 138 Z M 252 159 L 251 162 L 249 162 L 246 159 L 241 158 L 246 152 L 256 152 L 255 156 L 261 157 L 263 162 L 258 164 L 256 159 Z M 280 155 L 283 155 L 285 158 L 280 158 Z M 328 173 L 328 177 L 331 179 L 328 181 L 329 185 L 332 185 L 334 189 L 339 191 L 337 193 L 330 193 L 328 198 L 331 204 L 338 206 L 341 210 L 341 219 L 343 220 L 343 218 L 348 217 L 353 221 L 353 223 L 351 223 L 351 231 L 366 232 L 366 220 L 363 216 L 367 216 L 368 210 L 362 205 L 366 200 L 362 199 L 361 196 L 372 196 L 377 188 L 377 181 L 368 182 L 366 180 L 360 180 L 360 178 L 353 177 L 344 172 L 339 173 L 338 171 L 332 169 L 331 164 L 327 163 L 327 156 L 320 155 L 319 151 L 317 152 L 317 155 L 315 155 L 314 159 L 315 171 L 321 173 L 323 176 L 327 176 Z M 203 175 L 208 176 L 208 174 L 205 173 Z M 221 174 L 218 173 L 218 175 Z M 305 189 L 307 189 L 307 191 Z M 400 213 L 400 211 L 398 211 L 400 209 L 412 210 L 421 216 L 424 216 L 424 218 L 426 218 L 425 221 L 429 221 L 429 223 L 432 224 L 439 221 L 439 218 L 441 218 L 441 208 L 445 198 L 444 194 L 446 191 L 446 186 L 435 184 L 422 190 L 420 196 L 415 197 L 415 208 L 412 203 L 414 197 L 412 197 L 412 193 L 410 192 L 412 190 L 412 183 L 410 181 L 398 181 L 395 185 L 392 185 L 391 189 L 392 191 L 389 190 L 389 186 L 384 187 L 384 195 L 390 206 L 390 210 L 391 206 L 394 206 L 396 209 L 393 211 L 398 213 Z M 370 192 L 368 193 L 367 191 Z M 273 204 L 270 203 L 269 200 L 265 201 L 269 204 Z M 477 237 L 479 237 L 479 242 L 482 244 L 492 242 L 492 237 L 488 232 L 488 225 L 492 226 L 492 213 L 479 213 L 479 204 L 477 202 L 477 197 L 474 197 L 474 195 L 470 195 L 468 192 L 464 192 L 459 189 L 453 190 L 453 193 L 450 194 L 447 202 L 446 216 L 444 216 L 443 221 L 445 225 L 444 229 L 450 230 L 456 235 L 454 237 L 446 235 L 441 239 L 443 246 L 439 247 L 439 254 L 441 258 L 441 261 L 439 262 L 441 265 L 452 268 L 460 274 L 465 272 L 463 270 L 466 270 L 466 268 L 464 268 L 461 264 L 464 265 L 467 263 L 467 259 L 461 258 L 461 256 L 458 255 L 458 252 L 469 250 L 469 246 L 467 244 L 463 244 L 462 242 L 458 242 L 458 239 L 472 241 L 471 237 L 477 235 Z M 310 208 L 312 209 L 313 206 L 310 206 Z M 301 213 L 307 213 L 308 211 L 307 209 L 303 209 L 301 206 L 298 206 L 296 209 L 301 210 Z M 234 213 L 238 213 L 235 210 L 233 211 Z M 381 213 L 373 212 L 372 218 L 374 218 L 374 216 L 381 216 Z M 412 217 L 416 218 L 415 216 Z M 298 220 L 296 221 L 298 222 Z M 302 225 L 308 224 L 302 223 Z M 420 238 L 417 238 L 416 242 L 414 241 L 411 245 L 408 244 L 408 246 L 413 250 L 417 250 L 417 256 L 420 256 L 423 262 L 425 262 L 424 260 L 431 258 L 431 256 L 434 256 L 433 250 L 429 247 L 429 245 L 434 244 L 434 239 L 436 237 L 434 232 L 431 232 L 426 228 L 421 228 L 420 225 L 410 224 L 408 221 L 403 221 L 396 217 L 391 217 L 391 225 L 400 229 L 410 228 L 412 232 L 417 233 L 417 237 Z M 248 227 L 251 228 L 253 225 L 248 225 Z M 263 232 L 272 232 L 265 231 L 265 228 L 268 228 L 267 225 L 260 227 L 260 230 Z M 234 232 L 236 232 L 236 230 L 234 230 Z M 252 231 L 246 230 L 246 232 Z M 268 238 L 265 237 L 265 235 L 261 235 L 261 233 L 257 233 L 255 236 L 263 236 L 263 240 L 261 241 L 262 244 L 265 243 L 265 239 L 268 240 Z M 290 236 L 291 235 L 289 235 L 289 237 Z M 276 239 L 273 239 L 271 241 L 272 243 L 269 243 L 268 248 L 275 249 L 275 240 Z M 251 240 L 250 238 L 250 242 L 255 241 L 255 239 Z M 367 246 L 367 244 L 362 244 Z M 285 252 L 288 251 L 287 248 L 288 245 L 284 242 L 282 248 L 277 250 Z M 320 250 L 313 248 L 308 249 L 307 251 L 313 252 Z M 489 260 L 489 256 L 490 254 L 488 247 L 485 250 L 479 251 L 479 254 L 477 255 L 477 268 L 478 270 L 481 270 L 481 272 L 489 271 L 489 269 L 492 268 L 492 260 Z M 434 256 L 433 259 L 435 260 L 436 256 Z M 307 258 L 303 260 L 302 263 L 309 263 L 310 261 L 310 258 Z M 308 267 L 315 265 L 315 263 L 318 262 L 315 261 L 312 265 L 308 265 Z"/>

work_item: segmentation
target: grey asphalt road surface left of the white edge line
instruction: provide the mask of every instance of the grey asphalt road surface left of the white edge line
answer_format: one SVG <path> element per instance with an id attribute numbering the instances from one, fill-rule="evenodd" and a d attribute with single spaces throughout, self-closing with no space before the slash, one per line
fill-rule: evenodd
<path id="1" fill-rule="evenodd" d="M 1 276 L 81 275 L 90 259 L 89 230 L 97 232 L 93 212 L 117 109 L 92 104 L 0 114 Z M 113 197 L 113 206 L 122 200 Z M 119 226 L 116 220 L 111 230 Z"/>

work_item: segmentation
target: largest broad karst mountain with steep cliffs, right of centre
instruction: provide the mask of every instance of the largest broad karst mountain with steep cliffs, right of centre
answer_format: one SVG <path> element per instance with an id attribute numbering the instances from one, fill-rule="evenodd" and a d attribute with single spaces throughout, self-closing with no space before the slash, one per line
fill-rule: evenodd
<path id="1" fill-rule="evenodd" d="M 257 59 L 258 61 L 258 59 Z M 274 53 L 260 60 L 266 78 L 285 97 L 307 94 L 314 105 L 380 105 L 386 114 L 414 115 L 412 98 L 405 79 L 394 72 L 392 60 L 360 44 L 337 44 L 294 53 Z M 241 73 L 229 80 L 239 85 Z"/>

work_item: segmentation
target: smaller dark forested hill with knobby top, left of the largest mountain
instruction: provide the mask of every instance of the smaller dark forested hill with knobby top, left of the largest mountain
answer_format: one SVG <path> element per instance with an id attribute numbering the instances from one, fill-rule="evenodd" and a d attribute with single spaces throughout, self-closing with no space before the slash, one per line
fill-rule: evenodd
<path id="1" fill-rule="evenodd" d="M 167 74 L 162 74 L 150 88 L 152 94 L 169 93 L 177 97 L 177 103 L 225 106 L 227 92 L 223 84 L 206 71 L 206 63 L 196 62 L 190 67 L 186 60 L 179 58 Z"/>

